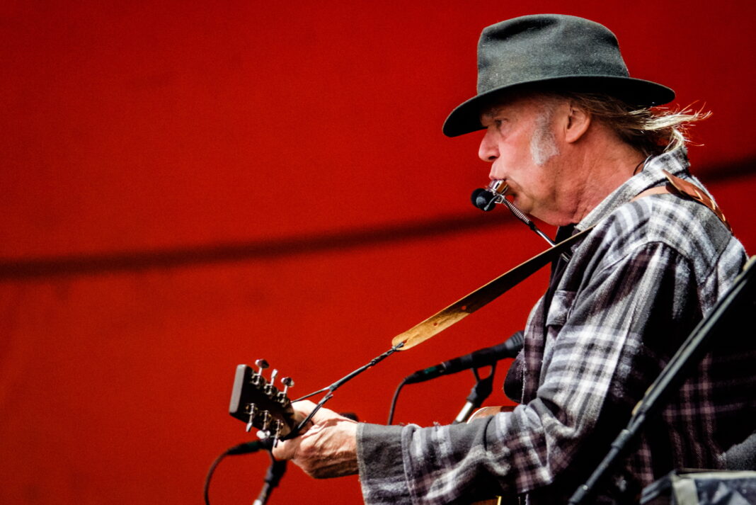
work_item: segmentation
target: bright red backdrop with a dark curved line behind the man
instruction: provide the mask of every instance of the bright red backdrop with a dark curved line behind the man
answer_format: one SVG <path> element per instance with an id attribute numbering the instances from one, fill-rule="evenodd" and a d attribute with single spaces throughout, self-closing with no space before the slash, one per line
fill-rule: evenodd
<path id="1" fill-rule="evenodd" d="M 199 503 L 248 437 L 236 364 L 304 394 L 543 249 L 469 205 L 479 136 L 441 133 L 498 20 L 605 23 L 634 76 L 712 110 L 694 172 L 756 250 L 751 2 L 156 3 L 0 6 L 2 503 Z M 402 376 L 521 328 L 544 275 L 330 405 L 384 422 Z M 472 382 L 408 386 L 398 421 L 448 422 Z M 212 503 L 249 503 L 267 463 L 225 460 Z M 271 503 L 359 497 L 290 468 Z"/>

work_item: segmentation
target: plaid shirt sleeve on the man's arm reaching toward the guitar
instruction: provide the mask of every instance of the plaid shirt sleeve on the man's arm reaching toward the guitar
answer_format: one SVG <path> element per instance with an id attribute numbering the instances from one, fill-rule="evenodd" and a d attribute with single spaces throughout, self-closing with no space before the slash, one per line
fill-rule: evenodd
<path id="1" fill-rule="evenodd" d="M 634 375 L 639 360 L 664 361 L 648 339 L 665 342 L 666 355 L 689 333 L 692 277 L 680 253 L 654 242 L 596 264 L 575 290 L 557 290 L 546 321 L 528 322 L 547 324 L 540 370 L 524 377 L 534 398 L 466 425 L 361 426 L 365 503 L 440 505 L 552 483 L 587 450 L 606 411 L 621 404 L 629 414 L 658 373 Z"/>

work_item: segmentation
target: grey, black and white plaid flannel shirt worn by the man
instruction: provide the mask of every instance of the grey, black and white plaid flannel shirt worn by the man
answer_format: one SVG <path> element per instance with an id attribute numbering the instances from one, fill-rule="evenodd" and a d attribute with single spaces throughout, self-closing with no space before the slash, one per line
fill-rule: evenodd
<path id="1" fill-rule="evenodd" d="M 687 166 L 684 150 L 649 160 L 578 223 L 596 228 L 575 246 L 548 310 L 541 299 L 531 311 L 513 364 L 523 377 L 513 412 L 454 426 L 359 426 L 366 503 L 567 501 L 745 263 L 742 245 L 700 203 L 631 201 L 665 183 L 662 169 L 702 187 Z M 611 503 L 613 488 L 634 496 L 676 467 L 721 468 L 723 451 L 754 429 L 754 360 L 745 338 L 709 352 L 596 503 Z"/>

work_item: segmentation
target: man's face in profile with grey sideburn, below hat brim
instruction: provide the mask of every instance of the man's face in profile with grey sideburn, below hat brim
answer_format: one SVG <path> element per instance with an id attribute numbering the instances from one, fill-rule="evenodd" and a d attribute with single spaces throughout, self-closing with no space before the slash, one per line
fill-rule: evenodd
<path id="1" fill-rule="evenodd" d="M 553 98 L 530 97 L 485 110 L 481 122 L 486 132 L 478 153 L 492 163 L 491 180 L 509 184 L 507 195 L 516 206 L 552 224 L 561 172 L 553 125 L 559 106 Z"/>

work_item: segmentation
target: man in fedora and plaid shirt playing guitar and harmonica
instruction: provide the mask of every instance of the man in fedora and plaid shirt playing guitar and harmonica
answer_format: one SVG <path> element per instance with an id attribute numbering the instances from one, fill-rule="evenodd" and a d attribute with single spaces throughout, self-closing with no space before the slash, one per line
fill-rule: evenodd
<path id="1" fill-rule="evenodd" d="M 522 211 L 559 236 L 594 226 L 560 260 L 531 312 L 507 378 L 521 403 L 466 425 L 376 426 L 322 410 L 274 449 L 315 477 L 359 472 L 366 503 L 467 503 L 526 494 L 565 503 L 632 407 L 746 256 L 687 171 L 695 113 L 650 107 L 671 89 L 632 79 L 615 36 L 578 17 L 536 15 L 486 28 L 478 94 L 448 136 L 485 130 L 479 156 Z M 753 345 L 714 349 L 647 426 L 595 497 L 611 503 L 676 467 L 720 468 L 753 426 Z M 302 402 L 302 413 L 312 404 Z"/>

